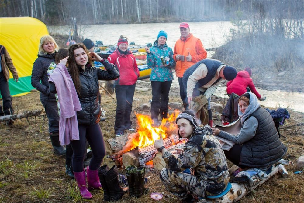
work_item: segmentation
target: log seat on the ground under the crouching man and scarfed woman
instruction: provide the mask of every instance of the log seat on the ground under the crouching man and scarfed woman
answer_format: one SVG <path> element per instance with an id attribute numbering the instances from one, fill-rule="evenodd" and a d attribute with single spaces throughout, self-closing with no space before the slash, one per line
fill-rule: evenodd
<path id="1" fill-rule="evenodd" d="M 231 190 L 223 197 L 223 199 L 203 199 L 199 202 L 217 202 L 217 203 L 232 203 L 239 201 L 242 197 L 253 191 L 257 186 L 262 185 L 264 182 L 266 182 L 269 178 L 274 176 L 276 173 L 278 173 L 278 167 L 275 167 L 273 165 L 272 171 L 268 174 L 268 177 L 265 179 L 255 179 L 254 183 L 252 185 L 249 185 L 249 183 L 231 183 L 232 188 Z"/>

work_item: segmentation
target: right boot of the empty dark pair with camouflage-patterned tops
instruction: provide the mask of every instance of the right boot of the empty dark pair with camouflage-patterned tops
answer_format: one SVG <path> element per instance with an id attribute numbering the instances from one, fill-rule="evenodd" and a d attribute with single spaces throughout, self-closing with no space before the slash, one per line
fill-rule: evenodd
<path id="1" fill-rule="evenodd" d="M 135 183 L 135 196 L 137 198 L 147 194 L 149 188 L 146 188 L 145 185 L 145 167 L 137 167 L 134 173 L 134 183 Z"/>

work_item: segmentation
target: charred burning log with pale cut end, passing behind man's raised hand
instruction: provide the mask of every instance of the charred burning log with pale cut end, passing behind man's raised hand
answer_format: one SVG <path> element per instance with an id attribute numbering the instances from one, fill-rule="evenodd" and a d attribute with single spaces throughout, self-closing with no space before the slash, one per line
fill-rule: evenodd
<path id="1" fill-rule="evenodd" d="M 179 142 L 178 135 L 172 134 L 170 137 L 164 139 L 164 146 L 168 148 L 172 145 L 175 145 Z M 135 165 L 135 166 L 144 166 L 148 161 L 151 161 L 157 149 L 154 148 L 154 145 L 149 145 L 144 148 L 133 149 L 122 155 L 122 161 L 124 166 Z"/>

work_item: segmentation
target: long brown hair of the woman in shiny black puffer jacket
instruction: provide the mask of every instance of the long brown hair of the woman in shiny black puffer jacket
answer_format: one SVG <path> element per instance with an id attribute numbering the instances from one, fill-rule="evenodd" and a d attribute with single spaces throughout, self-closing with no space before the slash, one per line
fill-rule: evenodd
<path id="1" fill-rule="evenodd" d="M 77 91 L 78 95 L 80 95 L 81 82 L 80 82 L 80 79 L 79 79 L 79 74 L 80 74 L 79 69 L 81 67 L 79 65 L 77 65 L 76 60 L 75 60 L 75 55 L 74 55 L 74 50 L 76 50 L 78 48 L 83 48 L 83 50 L 85 50 L 85 53 L 88 56 L 88 63 L 86 65 L 88 65 L 88 64 L 92 65 L 92 60 L 89 57 L 88 49 L 85 47 L 85 45 L 83 43 L 78 43 L 78 44 L 74 44 L 74 45 L 70 46 L 70 48 L 69 48 L 69 60 L 68 60 L 69 73 L 70 73 L 71 78 L 74 82 L 76 91 Z"/>

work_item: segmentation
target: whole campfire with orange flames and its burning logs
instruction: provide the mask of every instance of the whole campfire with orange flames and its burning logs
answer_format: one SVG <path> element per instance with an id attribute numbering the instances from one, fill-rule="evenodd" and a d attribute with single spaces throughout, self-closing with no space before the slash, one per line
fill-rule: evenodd
<path id="1" fill-rule="evenodd" d="M 137 132 L 111 138 L 105 141 L 108 157 L 112 158 L 116 165 L 142 165 L 145 166 L 149 161 L 155 163 L 161 160 L 154 148 L 154 141 L 164 139 L 164 146 L 167 150 L 181 148 L 184 145 L 184 139 L 178 138 L 175 119 L 180 112 L 175 110 L 168 118 L 164 118 L 159 126 L 154 125 L 154 121 L 149 115 L 136 114 Z M 148 164 L 150 167 L 153 165 Z M 163 167 L 164 163 L 160 166 Z"/>

